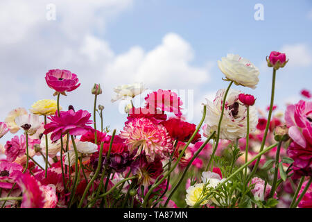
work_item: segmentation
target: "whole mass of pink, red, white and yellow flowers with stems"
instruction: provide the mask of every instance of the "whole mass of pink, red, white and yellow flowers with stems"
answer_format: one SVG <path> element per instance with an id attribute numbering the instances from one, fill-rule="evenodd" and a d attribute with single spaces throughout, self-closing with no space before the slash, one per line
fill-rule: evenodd
<path id="1" fill-rule="evenodd" d="M 218 61 L 229 86 L 203 104 L 198 126 L 185 121 L 182 100 L 171 90 L 148 94 L 136 108 L 132 99 L 146 88 L 135 83 L 114 89 L 112 102 L 131 100 L 118 134 L 103 129 L 100 85 L 92 88 L 92 121 L 87 110 L 61 111 L 60 96 L 80 86 L 76 74 L 49 70 L 46 83 L 57 101 L 37 101 L 30 113 L 16 108 L 0 123 L 0 138 L 24 132 L 0 146 L 0 206 L 312 207 L 312 103 L 288 105 L 284 119 L 271 118 L 276 71 L 287 61 L 278 52 L 267 61 L 273 67 L 268 118 L 261 110 L 258 116 L 254 96 L 231 88 L 254 89 L 259 70 L 229 54 Z M 302 95 L 311 97 L 306 89 Z M 35 160 L 40 156 L 44 164 Z"/>

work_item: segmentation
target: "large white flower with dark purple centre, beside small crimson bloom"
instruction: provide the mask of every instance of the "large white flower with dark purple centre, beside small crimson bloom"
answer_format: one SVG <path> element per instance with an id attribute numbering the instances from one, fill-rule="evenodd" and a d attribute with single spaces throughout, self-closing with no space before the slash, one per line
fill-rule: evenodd
<path id="1" fill-rule="evenodd" d="M 218 123 L 222 111 L 223 97 L 226 89 L 219 89 L 213 102 L 207 100 L 207 112 L 204 135 L 210 135 L 211 130 L 218 130 Z M 239 101 L 241 91 L 229 89 L 220 126 L 220 139 L 235 140 L 246 137 L 247 131 L 247 108 Z M 258 124 L 257 110 L 254 106 L 249 107 L 250 133 L 256 130 Z"/>

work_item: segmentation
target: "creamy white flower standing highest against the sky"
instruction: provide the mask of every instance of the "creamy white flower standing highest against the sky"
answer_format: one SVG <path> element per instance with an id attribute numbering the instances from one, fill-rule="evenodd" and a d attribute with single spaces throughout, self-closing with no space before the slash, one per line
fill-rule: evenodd
<path id="1" fill-rule="evenodd" d="M 259 82 L 259 69 L 239 55 L 227 54 L 227 57 L 218 61 L 218 67 L 227 80 L 234 81 L 236 85 L 255 89 Z"/>

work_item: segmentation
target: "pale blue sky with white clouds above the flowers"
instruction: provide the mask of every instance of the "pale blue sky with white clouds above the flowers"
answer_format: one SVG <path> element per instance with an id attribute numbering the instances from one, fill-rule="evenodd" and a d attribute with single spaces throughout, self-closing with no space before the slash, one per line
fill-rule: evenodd
<path id="1" fill-rule="evenodd" d="M 257 3 L 263 20 L 254 19 Z M 0 30 L 0 121 L 13 108 L 53 99 L 44 76 L 57 68 L 77 74 L 81 83 L 61 97 L 62 107 L 92 112 L 90 90 L 101 83 L 104 124 L 118 129 L 125 103 L 110 102 L 112 89 L 139 81 L 150 90 L 186 92 L 184 110 L 198 123 L 200 104 L 227 87 L 217 67 L 227 53 L 259 67 L 257 89 L 235 88 L 254 94 L 263 110 L 270 99 L 270 51 L 289 58 L 277 71 L 280 110 L 299 101 L 301 89 L 312 88 L 311 0 L 1 0 Z"/>

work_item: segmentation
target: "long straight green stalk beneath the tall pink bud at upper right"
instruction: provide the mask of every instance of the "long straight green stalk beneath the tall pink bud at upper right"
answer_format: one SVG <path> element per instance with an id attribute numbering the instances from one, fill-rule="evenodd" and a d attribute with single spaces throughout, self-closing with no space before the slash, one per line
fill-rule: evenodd
<path id="1" fill-rule="evenodd" d="M 271 120 L 272 110 L 273 110 L 273 105 L 274 105 L 275 78 L 276 78 L 276 70 L 273 68 L 270 110 L 268 113 L 268 120 L 267 120 L 268 122 L 266 123 L 266 130 L 264 131 L 264 135 L 263 135 L 263 139 L 262 139 L 262 143 L 261 143 L 261 147 L 260 147 L 259 152 L 263 151 L 263 148 L 266 145 L 266 137 L 268 135 L 268 129 L 270 127 L 270 120 Z M 251 180 L 254 173 L 256 173 L 260 160 L 261 160 L 261 155 L 259 156 L 256 164 L 254 164 L 254 168 L 252 169 L 252 171 L 250 172 L 250 175 L 247 178 L 247 181 L 246 181 L 247 183 L 249 182 L 249 180 Z"/>

